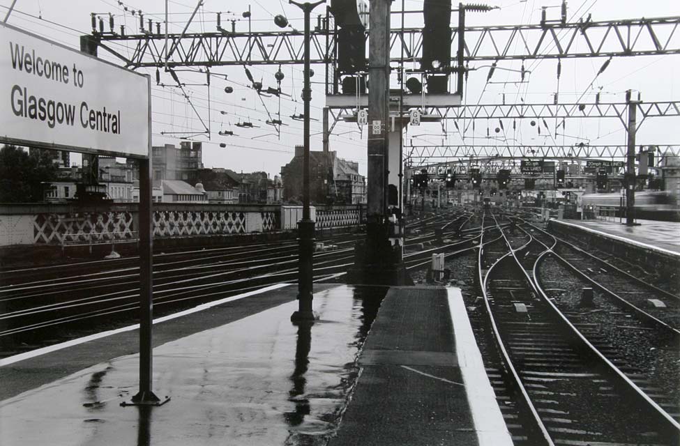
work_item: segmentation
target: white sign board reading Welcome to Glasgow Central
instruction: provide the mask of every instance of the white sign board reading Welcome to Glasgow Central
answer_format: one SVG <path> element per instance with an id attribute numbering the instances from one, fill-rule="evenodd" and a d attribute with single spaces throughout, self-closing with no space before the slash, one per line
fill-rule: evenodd
<path id="1" fill-rule="evenodd" d="M 149 156 L 149 76 L 13 26 L 0 42 L 0 141 Z"/>

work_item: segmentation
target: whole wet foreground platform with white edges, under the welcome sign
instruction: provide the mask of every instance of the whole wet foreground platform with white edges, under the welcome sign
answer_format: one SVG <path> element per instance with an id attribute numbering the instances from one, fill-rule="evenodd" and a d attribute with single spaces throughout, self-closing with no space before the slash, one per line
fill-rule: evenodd
<path id="1" fill-rule="evenodd" d="M 160 407 L 121 406 L 138 389 L 135 326 L 0 360 L 1 443 L 511 444 L 460 290 L 315 284 L 319 321 L 298 327 L 296 293 L 154 321 Z"/>

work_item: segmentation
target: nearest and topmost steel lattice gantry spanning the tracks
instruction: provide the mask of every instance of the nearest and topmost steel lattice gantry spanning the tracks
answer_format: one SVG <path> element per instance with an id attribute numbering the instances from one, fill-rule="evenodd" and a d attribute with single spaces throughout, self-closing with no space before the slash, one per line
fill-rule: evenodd
<path id="1" fill-rule="evenodd" d="M 325 22 L 327 23 L 327 21 Z M 466 26 L 464 61 L 498 59 L 564 59 L 598 56 L 680 54 L 680 17 L 635 20 Z M 158 30 L 160 31 L 160 29 Z M 123 34 L 93 29 L 99 45 L 121 59 L 127 68 L 165 66 L 165 33 L 144 31 Z M 367 34 L 368 38 L 368 34 Z M 311 35 L 311 63 L 333 61 L 335 34 L 317 26 Z M 452 48 L 458 47 L 458 30 L 451 31 Z M 128 51 L 107 42 L 130 43 Z M 303 63 L 301 31 L 169 33 L 172 57 L 169 68 L 179 66 L 243 66 Z M 414 61 L 422 54 L 422 29 L 393 29 L 392 61 Z M 453 58 L 452 58 L 453 59 Z"/>

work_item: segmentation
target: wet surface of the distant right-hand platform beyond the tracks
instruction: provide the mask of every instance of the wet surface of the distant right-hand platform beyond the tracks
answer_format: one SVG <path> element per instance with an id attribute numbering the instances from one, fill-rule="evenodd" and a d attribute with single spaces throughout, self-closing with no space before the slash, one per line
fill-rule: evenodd
<path id="1" fill-rule="evenodd" d="M 658 249 L 680 256 L 680 223 L 637 220 L 638 225 L 626 226 L 603 220 L 552 220 L 557 224 L 571 224 L 605 236 L 625 239 L 628 243 Z"/>

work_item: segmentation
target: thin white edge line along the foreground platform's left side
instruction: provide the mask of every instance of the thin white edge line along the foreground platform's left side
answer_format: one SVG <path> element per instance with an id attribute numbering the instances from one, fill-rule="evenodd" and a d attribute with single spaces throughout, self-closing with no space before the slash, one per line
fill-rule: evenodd
<path id="1" fill-rule="evenodd" d="M 234 300 L 248 298 L 251 295 L 266 293 L 267 291 L 273 291 L 273 290 L 280 289 L 280 288 L 283 288 L 284 286 L 289 286 L 289 285 L 291 285 L 291 284 L 274 284 L 274 285 L 270 285 L 270 286 L 265 286 L 264 288 L 261 288 L 261 289 L 248 291 L 247 293 L 232 295 L 228 298 L 215 300 L 213 302 L 207 302 L 207 303 L 204 303 L 204 304 L 201 304 L 201 305 L 197 305 L 196 307 L 186 309 L 182 312 L 178 312 L 178 313 L 174 313 L 174 314 L 168 314 L 167 316 L 163 316 L 163 317 L 160 317 L 160 318 L 153 319 L 153 323 L 156 324 L 156 323 L 161 323 L 161 322 L 165 322 L 165 321 L 170 321 L 172 319 L 179 318 L 181 316 L 186 316 L 188 314 L 202 312 L 204 309 L 209 309 L 210 307 L 215 307 L 216 305 L 222 305 L 224 303 L 232 302 Z M 8 356 L 8 357 L 0 360 L 0 367 L 6 366 L 6 365 L 9 365 L 9 364 L 14 364 L 15 362 L 24 361 L 24 360 L 30 359 L 31 357 L 38 357 L 40 355 L 45 355 L 47 353 L 59 351 L 63 348 L 77 346 L 79 344 L 84 344 L 85 342 L 94 341 L 96 339 L 101 339 L 101 338 L 107 337 L 107 336 L 112 336 L 113 334 L 119 334 L 119 333 L 123 333 L 123 332 L 129 332 L 131 330 L 137 330 L 138 328 L 139 328 L 139 324 L 137 323 L 135 325 L 128 325 L 127 327 L 116 328 L 116 330 L 108 330 L 108 331 L 101 332 L 101 333 L 90 334 L 89 336 L 80 337 L 78 339 L 71 339 L 70 341 L 61 342 L 60 344 L 54 344 L 54 345 L 49 346 L 49 347 L 37 348 L 36 350 L 27 351 L 26 353 L 20 353 L 18 355 Z"/>

